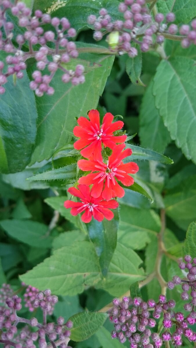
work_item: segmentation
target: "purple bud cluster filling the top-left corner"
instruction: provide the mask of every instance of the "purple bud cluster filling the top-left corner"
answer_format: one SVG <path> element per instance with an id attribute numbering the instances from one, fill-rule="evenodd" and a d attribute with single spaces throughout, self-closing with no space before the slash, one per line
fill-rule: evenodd
<path id="1" fill-rule="evenodd" d="M 14 37 L 14 25 L 6 18 L 8 9 L 12 11 L 13 16 L 18 18 L 18 25 L 25 28 L 24 34 Z M 44 24 L 51 24 L 52 30 L 44 31 L 42 27 Z M 4 34 L 1 28 L 3 28 Z M 38 70 L 32 74 L 33 81 L 30 83 L 30 88 L 35 90 L 37 96 L 54 93 L 54 88 L 49 84 L 58 69 L 63 72 L 62 81 L 64 83 L 70 81 L 73 86 L 83 84 L 85 82 L 83 65 L 76 65 L 75 70 L 69 70 L 66 66 L 72 58 L 78 57 L 76 45 L 70 40 L 75 36 L 76 30 L 70 27 L 70 23 L 65 17 L 51 18 L 49 14 L 43 14 L 40 10 L 36 10 L 34 16 L 31 16 L 31 10 L 26 7 L 25 3 L 13 4 L 9 0 L 0 0 L 0 49 L 9 54 L 6 58 L 7 71 L 4 73 L 5 64 L 0 61 L 0 94 L 5 92 L 5 87 L 2 85 L 7 82 L 8 76 L 15 74 L 19 79 L 23 77 L 22 70 L 26 69 L 25 60 L 30 56 L 35 57 L 37 61 Z M 17 42 L 17 48 L 12 42 L 13 39 Z M 48 49 L 49 43 L 55 48 Z M 24 44 L 29 45 L 29 52 L 22 51 Z M 41 47 L 35 51 L 33 46 L 37 44 Z M 48 60 L 49 55 L 52 56 L 52 61 Z M 41 71 L 46 67 L 49 74 L 42 76 Z"/>

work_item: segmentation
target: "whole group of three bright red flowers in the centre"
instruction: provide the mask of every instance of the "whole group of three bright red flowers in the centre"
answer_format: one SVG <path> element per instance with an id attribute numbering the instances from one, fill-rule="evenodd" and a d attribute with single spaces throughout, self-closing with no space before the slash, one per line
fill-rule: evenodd
<path id="1" fill-rule="evenodd" d="M 90 174 L 82 176 L 78 182 L 78 189 L 71 187 L 68 192 L 80 198 L 80 202 L 67 200 L 64 203 L 66 208 L 71 208 L 71 214 L 82 215 L 83 222 L 90 222 L 92 216 L 102 221 L 104 217 L 111 220 L 114 214 L 109 209 L 118 207 L 114 197 L 123 197 L 125 191 L 117 182 L 125 186 L 134 183 L 133 177 L 128 174 L 135 174 L 138 165 L 134 162 L 123 163 L 122 159 L 131 155 L 131 149 L 125 149 L 124 143 L 127 136 L 114 136 L 113 133 L 123 127 L 122 121 L 112 123 L 114 116 L 107 112 L 100 126 L 99 112 L 89 111 L 89 119 L 78 118 L 78 125 L 74 127 L 74 135 L 80 139 L 74 143 L 74 148 L 81 150 L 81 155 L 88 160 L 78 161 L 78 167 L 82 171 L 91 171 Z M 112 155 L 104 163 L 101 150 L 103 146 L 112 149 Z M 119 143 L 116 145 L 116 143 Z M 124 150 L 125 149 L 125 150 Z M 92 185 L 90 190 L 89 186 Z"/>

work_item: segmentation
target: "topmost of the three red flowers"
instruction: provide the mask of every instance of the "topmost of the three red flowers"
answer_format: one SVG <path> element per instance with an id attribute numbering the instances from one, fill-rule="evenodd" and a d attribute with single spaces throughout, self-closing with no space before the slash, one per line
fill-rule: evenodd
<path id="1" fill-rule="evenodd" d="M 74 127 L 74 135 L 80 139 L 74 143 L 74 148 L 81 150 L 81 155 L 89 158 L 93 154 L 94 160 L 101 160 L 101 145 L 113 149 L 116 143 L 125 142 L 127 136 L 114 136 L 115 130 L 121 129 L 124 125 L 122 121 L 112 123 L 114 116 L 107 112 L 100 127 L 99 112 L 91 110 L 88 114 L 90 121 L 85 117 L 79 117 L 79 126 Z"/>

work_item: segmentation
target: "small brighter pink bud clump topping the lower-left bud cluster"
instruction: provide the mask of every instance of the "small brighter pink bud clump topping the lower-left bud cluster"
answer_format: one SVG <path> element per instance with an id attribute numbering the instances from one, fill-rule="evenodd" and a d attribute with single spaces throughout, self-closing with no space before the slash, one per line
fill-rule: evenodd
<path id="1" fill-rule="evenodd" d="M 40 307 L 42 310 L 45 310 L 46 313 L 52 315 L 54 305 L 58 302 L 58 297 L 56 295 L 51 295 L 49 289 L 41 292 L 36 287 L 29 285 L 24 293 L 24 301 L 25 307 L 28 307 L 30 312 Z"/>

